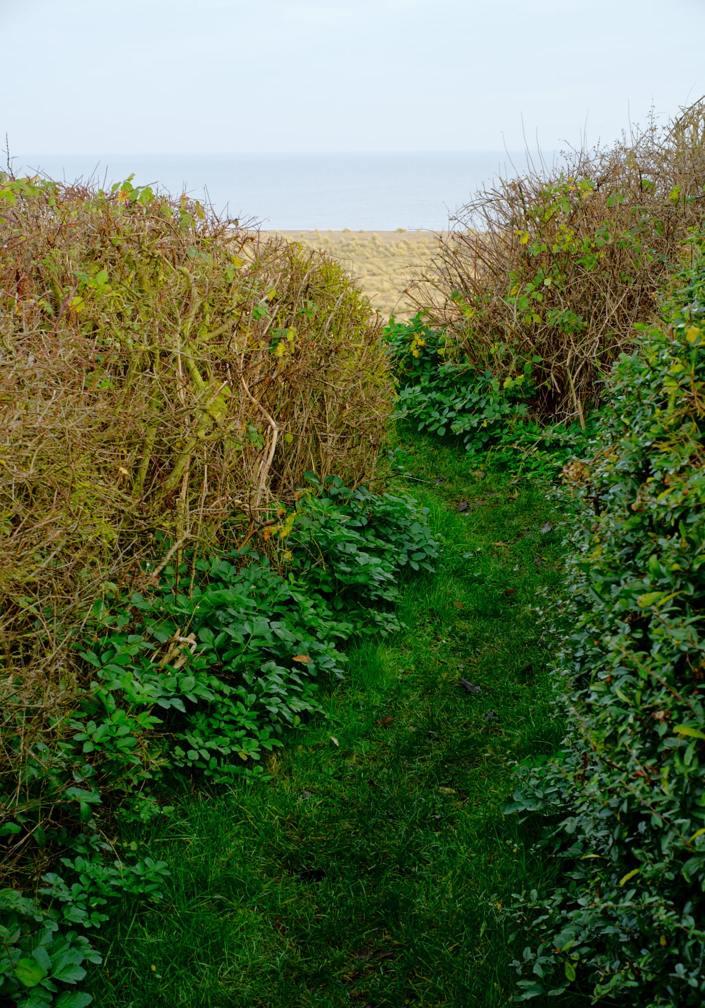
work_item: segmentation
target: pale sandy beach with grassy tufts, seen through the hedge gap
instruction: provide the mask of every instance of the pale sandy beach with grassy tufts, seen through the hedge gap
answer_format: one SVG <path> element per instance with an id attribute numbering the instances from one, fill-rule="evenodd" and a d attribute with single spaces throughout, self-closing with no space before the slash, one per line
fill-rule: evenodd
<path id="1" fill-rule="evenodd" d="M 409 319 L 415 312 L 404 294 L 409 280 L 429 262 L 436 244 L 433 231 L 278 231 L 289 241 L 322 249 L 358 277 L 373 307 L 384 317 Z"/>

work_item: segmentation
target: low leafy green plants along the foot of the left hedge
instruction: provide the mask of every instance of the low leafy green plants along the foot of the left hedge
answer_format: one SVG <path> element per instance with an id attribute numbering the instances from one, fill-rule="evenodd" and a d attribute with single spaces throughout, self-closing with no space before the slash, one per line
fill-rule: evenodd
<path id="1" fill-rule="evenodd" d="M 408 495 L 310 476 L 298 496 L 264 521 L 269 554 L 182 554 L 151 587 L 113 586 L 74 635 L 90 675 L 59 744 L 21 752 L 16 733 L 26 789 L 5 796 L 0 844 L 25 875 L 40 874 L 38 899 L 0 894 L 0 997 L 18 1008 L 90 1003 L 61 986 L 83 980 L 84 959 L 100 960 L 75 928 L 99 928 L 125 897 L 158 903 L 169 874 L 123 837 L 173 811 L 164 794 L 178 792 L 179 774 L 214 786 L 263 776 L 262 756 L 286 730 L 324 714 L 320 687 L 343 676 L 352 633 L 399 628 L 402 569 L 432 570 L 427 512 Z M 39 852 L 33 866 L 28 850 Z"/>

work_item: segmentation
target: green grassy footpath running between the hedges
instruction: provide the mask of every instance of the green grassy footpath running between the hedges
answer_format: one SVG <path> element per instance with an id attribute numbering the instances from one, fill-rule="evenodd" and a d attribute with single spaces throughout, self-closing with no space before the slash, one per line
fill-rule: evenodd
<path id="1" fill-rule="evenodd" d="M 170 894 L 103 934 L 102 1008 L 512 1001 L 500 905 L 539 866 L 501 808 L 511 762 L 560 739 L 536 612 L 560 590 L 560 530 L 542 530 L 559 519 L 456 450 L 406 451 L 444 544 L 405 588 L 409 629 L 350 651 L 329 720 L 290 736 L 269 781 L 196 790 L 153 834 Z"/>

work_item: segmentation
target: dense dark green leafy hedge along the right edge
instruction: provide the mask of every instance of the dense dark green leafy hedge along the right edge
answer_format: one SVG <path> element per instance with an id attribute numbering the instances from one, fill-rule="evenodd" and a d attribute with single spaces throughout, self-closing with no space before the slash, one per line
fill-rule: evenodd
<path id="1" fill-rule="evenodd" d="M 609 380 L 579 518 L 564 662 L 572 731 L 521 769 L 560 887 L 513 914 L 523 999 L 705 1001 L 705 259 Z M 683 276 L 681 277 L 683 280 Z"/>

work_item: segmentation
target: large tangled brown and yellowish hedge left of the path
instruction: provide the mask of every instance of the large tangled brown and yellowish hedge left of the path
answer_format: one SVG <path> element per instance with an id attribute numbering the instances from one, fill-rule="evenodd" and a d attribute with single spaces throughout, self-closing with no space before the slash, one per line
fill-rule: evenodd
<path id="1" fill-rule="evenodd" d="M 392 395 L 334 262 L 185 198 L 0 176 L 0 253 L 12 777 L 82 688 L 66 639 L 95 600 L 143 586 L 148 560 L 155 584 L 181 550 L 238 545 L 304 471 L 360 483 Z"/>

